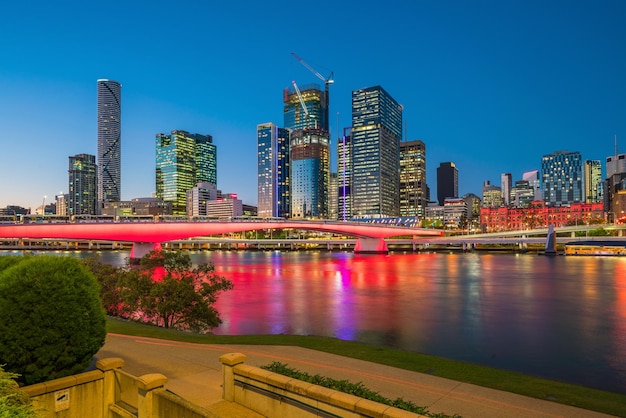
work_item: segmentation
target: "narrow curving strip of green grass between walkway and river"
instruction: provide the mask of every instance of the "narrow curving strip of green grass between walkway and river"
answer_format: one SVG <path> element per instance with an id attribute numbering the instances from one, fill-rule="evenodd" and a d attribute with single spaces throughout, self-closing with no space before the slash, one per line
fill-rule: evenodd
<path id="1" fill-rule="evenodd" d="M 626 394 L 605 392 L 472 363 L 335 338 L 297 335 L 199 335 L 113 318 L 107 320 L 107 331 L 199 344 L 298 346 L 626 417 Z"/>

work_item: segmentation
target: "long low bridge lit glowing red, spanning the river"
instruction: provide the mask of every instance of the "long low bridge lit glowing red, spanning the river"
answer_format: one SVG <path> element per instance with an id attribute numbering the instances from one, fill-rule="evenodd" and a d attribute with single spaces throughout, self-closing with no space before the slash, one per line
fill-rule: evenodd
<path id="1" fill-rule="evenodd" d="M 355 253 L 387 253 L 385 238 L 441 237 L 443 231 L 363 222 L 236 220 L 204 222 L 117 222 L 0 225 L 0 239 L 71 239 L 132 242 L 130 258 L 141 258 L 161 243 L 232 232 L 297 229 L 357 238 Z"/>

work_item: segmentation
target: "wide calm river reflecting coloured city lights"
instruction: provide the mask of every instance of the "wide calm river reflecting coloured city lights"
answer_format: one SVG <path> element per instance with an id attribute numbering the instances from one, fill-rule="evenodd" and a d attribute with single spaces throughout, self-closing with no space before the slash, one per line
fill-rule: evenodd
<path id="1" fill-rule="evenodd" d="M 234 283 L 216 334 L 336 337 L 626 393 L 626 258 L 191 255 Z"/>

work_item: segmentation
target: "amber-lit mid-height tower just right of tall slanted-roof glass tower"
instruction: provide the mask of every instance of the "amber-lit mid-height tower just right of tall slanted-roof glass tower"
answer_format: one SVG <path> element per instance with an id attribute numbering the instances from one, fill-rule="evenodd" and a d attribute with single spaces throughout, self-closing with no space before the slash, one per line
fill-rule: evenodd
<path id="1" fill-rule="evenodd" d="M 424 219 L 428 205 L 426 145 L 423 141 L 400 142 L 400 215 Z"/>

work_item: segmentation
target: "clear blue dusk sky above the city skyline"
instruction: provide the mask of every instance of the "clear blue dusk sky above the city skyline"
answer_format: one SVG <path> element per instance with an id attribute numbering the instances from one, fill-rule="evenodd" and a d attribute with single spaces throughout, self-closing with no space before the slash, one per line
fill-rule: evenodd
<path id="1" fill-rule="evenodd" d="M 0 12 L 0 207 L 68 190 L 96 154 L 96 80 L 122 83 L 122 198 L 155 189 L 156 133 L 210 134 L 218 188 L 257 202 L 256 126 L 283 89 L 331 86 L 332 170 L 351 92 L 381 85 L 426 143 L 427 183 L 453 161 L 460 194 L 518 180 L 541 157 L 626 152 L 626 2 L 28 1 Z"/>

